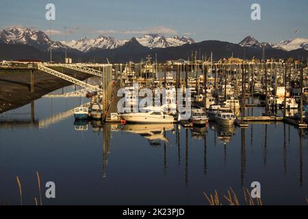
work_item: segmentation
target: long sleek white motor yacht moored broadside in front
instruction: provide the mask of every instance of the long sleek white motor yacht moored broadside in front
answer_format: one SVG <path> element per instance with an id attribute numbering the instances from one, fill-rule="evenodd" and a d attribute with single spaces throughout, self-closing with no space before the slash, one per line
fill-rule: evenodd
<path id="1" fill-rule="evenodd" d="M 175 118 L 164 114 L 163 112 L 137 112 L 121 115 L 127 123 L 173 123 Z"/>

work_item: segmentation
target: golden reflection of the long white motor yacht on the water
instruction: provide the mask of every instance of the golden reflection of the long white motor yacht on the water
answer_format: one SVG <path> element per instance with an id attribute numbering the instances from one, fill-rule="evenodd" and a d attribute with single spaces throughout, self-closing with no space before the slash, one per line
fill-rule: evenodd
<path id="1" fill-rule="evenodd" d="M 157 140 L 169 142 L 164 136 L 164 131 L 174 130 L 173 124 L 159 125 L 159 124 L 128 124 L 122 130 L 130 133 L 136 133 L 149 140 L 150 144 L 157 145 Z"/>

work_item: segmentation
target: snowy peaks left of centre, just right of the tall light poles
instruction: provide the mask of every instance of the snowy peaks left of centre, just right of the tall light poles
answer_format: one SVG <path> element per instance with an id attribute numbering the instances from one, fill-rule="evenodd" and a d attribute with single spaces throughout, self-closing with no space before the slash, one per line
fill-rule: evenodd
<path id="1" fill-rule="evenodd" d="M 88 39 L 86 37 L 80 40 L 71 40 L 66 42 L 68 47 L 78 49 L 79 51 L 88 52 L 94 49 L 116 49 L 123 46 L 128 40 L 117 40 L 111 36 L 99 36 L 98 38 Z M 64 42 L 62 42 L 64 43 Z"/>

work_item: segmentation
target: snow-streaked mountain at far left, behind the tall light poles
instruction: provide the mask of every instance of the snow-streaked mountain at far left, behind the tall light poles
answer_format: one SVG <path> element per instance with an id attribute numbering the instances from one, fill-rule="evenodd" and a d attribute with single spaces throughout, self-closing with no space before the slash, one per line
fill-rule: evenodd
<path id="1" fill-rule="evenodd" d="M 29 28 L 12 27 L 0 31 L 0 42 L 6 44 L 27 44 L 42 51 L 48 51 L 52 42 L 53 49 L 64 49 L 61 42 L 53 42 L 43 31 Z"/>

